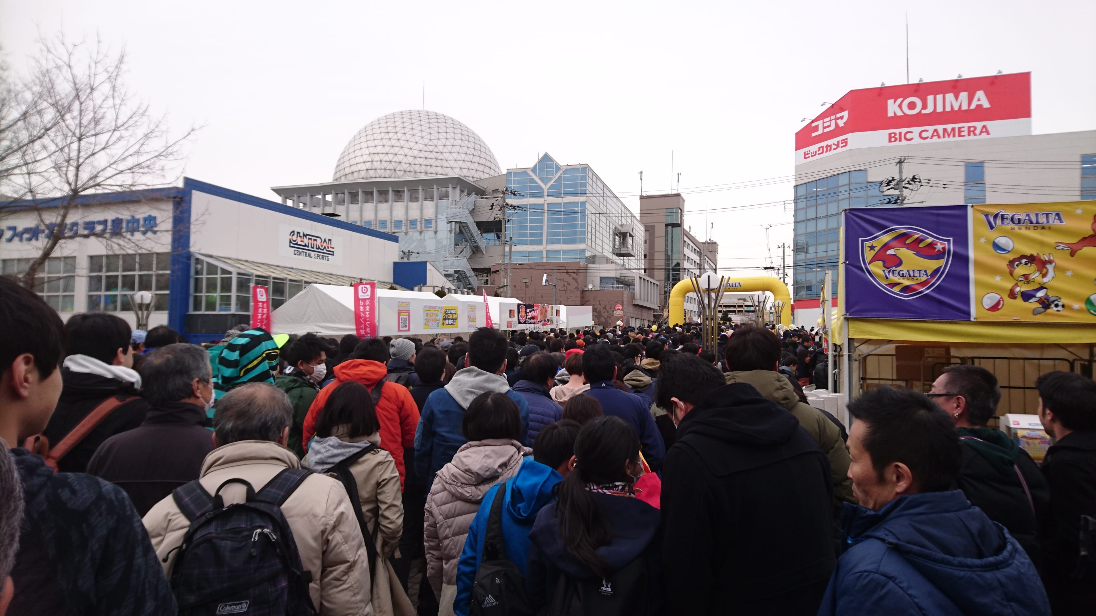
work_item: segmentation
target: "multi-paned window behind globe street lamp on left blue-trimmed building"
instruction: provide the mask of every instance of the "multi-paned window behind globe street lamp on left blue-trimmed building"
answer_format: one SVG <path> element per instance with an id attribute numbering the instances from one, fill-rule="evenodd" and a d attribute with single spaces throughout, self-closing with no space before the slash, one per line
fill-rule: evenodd
<path id="1" fill-rule="evenodd" d="M 133 310 L 129 294 L 152 294 L 152 309 L 168 309 L 171 255 L 167 252 L 103 254 L 88 258 L 88 311 Z"/>

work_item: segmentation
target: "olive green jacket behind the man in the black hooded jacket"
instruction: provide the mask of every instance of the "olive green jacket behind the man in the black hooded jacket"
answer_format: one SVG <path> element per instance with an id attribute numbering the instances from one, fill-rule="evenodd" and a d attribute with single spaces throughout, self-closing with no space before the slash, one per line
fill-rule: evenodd
<path id="1" fill-rule="evenodd" d="M 791 411 L 799 420 L 799 425 L 814 438 L 819 447 L 825 452 L 830 458 L 830 472 L 833 475 L 833 498 L 835 515 L 834 520 L 840 520 L 841 503 L 849 502 L 857 504 L 856 497 L 853 495 L 853 480 L 848 478 L 848 448 L 841 440 L 841 431 L 821 411 L 803 403 L 796 395 L 796 390 L 788 381 L 788 377 L 775 370 L 747 370 L 739 373 L 723 373 L 727 383 L 749 383 L 757 389 L 757 392 L 766 399 L 780 404 Z"/>

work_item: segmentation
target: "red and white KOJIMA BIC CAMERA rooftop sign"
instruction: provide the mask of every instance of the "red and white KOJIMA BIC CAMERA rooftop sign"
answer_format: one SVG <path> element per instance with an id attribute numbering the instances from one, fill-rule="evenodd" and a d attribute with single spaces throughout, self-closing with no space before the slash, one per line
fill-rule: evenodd
<path id="1" fill-rule="evenodd" d="M 1031 134 L 1031 73 L 853 90 L 796 133 L 796 164 L 854 148 Z"/>

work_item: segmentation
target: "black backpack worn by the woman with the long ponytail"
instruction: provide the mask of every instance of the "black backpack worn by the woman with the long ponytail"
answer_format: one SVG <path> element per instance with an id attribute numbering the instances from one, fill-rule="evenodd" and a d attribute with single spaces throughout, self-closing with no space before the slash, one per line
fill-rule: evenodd
<path id="1" fill-rule="evenodd" d="M 640 557 L 608 578 L 560 573 L 546 616 L 644 616 L 651 613 L 647 561 Z"/>

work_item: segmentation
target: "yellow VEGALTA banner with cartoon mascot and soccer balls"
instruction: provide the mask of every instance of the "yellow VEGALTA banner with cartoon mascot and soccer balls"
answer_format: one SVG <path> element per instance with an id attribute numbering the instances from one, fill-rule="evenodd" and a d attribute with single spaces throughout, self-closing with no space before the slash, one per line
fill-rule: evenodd
<path id="1" fill-rule="evenodd" d="M 974 205 L 977 320 L 1096 322 L 1096 202 Z"/>

